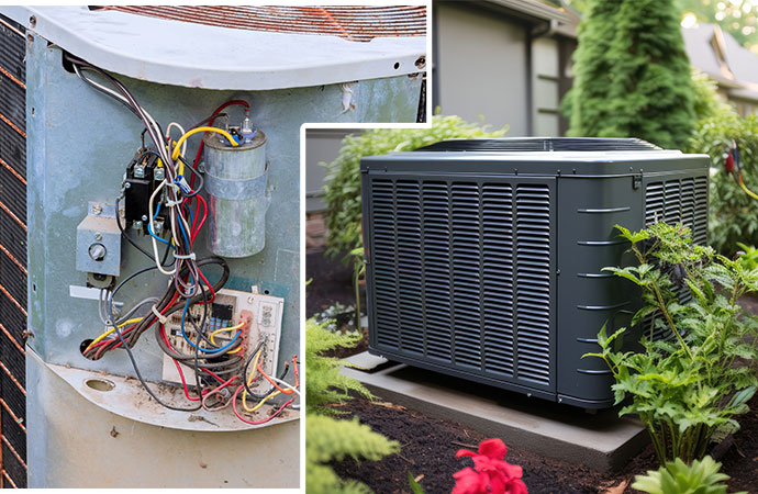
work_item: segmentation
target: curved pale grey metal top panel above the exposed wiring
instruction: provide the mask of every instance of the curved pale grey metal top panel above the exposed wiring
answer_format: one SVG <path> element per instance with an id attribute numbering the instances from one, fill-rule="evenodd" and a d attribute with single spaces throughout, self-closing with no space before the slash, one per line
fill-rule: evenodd
<path id="1" fill-rule="evenodd" d="M 426 50 L 425 35 L 356 43 L 87 7 L 3 7 L 2 12 L 105 70 L 192 88 L 285 89 L 414 74 L 423 69 L 415 64 Z"/>

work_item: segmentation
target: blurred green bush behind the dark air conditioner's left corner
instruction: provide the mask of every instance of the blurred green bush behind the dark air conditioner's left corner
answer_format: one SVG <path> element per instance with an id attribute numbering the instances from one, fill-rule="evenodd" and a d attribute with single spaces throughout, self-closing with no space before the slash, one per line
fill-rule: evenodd
<path id="1" fill-rule="evenodd" d="M 342 142 L 339 156 L 326 165 L 328 205 L 328 250 L 332 256 L 344 255 L 363 246 L 360 235 L 360 158 L 391 151 L 414 150 L 452 138 L 502 137 L 508 127 L 489 132 L 455 115 L 435 115 L 428 128 L 376 128 L 363 135 L 348 135 Z M 347 262 L 352 256 L 345 257 Z"/>

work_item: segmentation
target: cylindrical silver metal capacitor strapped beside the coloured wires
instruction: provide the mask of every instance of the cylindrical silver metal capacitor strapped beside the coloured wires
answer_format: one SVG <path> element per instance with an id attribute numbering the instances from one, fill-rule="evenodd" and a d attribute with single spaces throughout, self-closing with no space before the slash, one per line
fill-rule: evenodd
<path id="1" fill-rule="evenodd" d="M 205 192 L 210 211 L 209 248 L 222 257 L 247 257 L 266 245 L 268 162 L 266 134 L 231 146 L 216 133 L 205 143 Z"/>

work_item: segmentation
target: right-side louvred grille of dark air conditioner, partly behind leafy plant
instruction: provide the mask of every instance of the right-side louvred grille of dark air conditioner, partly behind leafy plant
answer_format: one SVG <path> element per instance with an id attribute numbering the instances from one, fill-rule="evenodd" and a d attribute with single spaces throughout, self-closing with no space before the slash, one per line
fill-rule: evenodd
<path id="1" fill-rule="evenodd" d="M 692 231 L 692 242 L 707 244 L 707 177 L 689 177 L 648 183 L 645 190 L 645 225 L 665 222 L 669 225 L 681 223 Z M 679 303 L 692 300 L 684 285 L 676 289 Z M 649 328 L 653 317 L 643 319 L 644 328 Z M 668 337 L 669 330 L 659 324 L 653 330 L 653 339 Z"/>

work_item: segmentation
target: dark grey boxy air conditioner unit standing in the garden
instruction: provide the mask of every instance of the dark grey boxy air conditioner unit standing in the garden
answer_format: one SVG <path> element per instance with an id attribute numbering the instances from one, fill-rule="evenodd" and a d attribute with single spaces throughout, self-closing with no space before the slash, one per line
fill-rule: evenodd
<path id="1" fill-rule="evenodd" d="M 709 164 L 620 138 L 448 141 L 364 158 L 369 351 L 611 406 L 604 362 L 581 357 L 639 307 L 638 291 L 602 271 L 625 261 L 614 225 L 682 222 L 705 244 Z"/>

